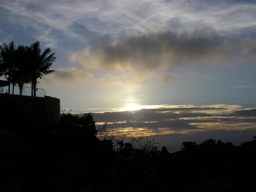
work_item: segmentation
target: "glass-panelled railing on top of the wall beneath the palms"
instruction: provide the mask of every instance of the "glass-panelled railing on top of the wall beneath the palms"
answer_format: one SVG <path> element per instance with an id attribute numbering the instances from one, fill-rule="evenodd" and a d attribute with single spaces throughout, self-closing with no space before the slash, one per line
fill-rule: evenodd
<path id="1" fill-rule="evenodd" d="M 14 87 L 13 94 L 14 95 L 20 95 L 20 88 L 19 86 L 16 85 L 10 85 L 10 94 L 12 94 L 12 88 Z M 9 93 L 8 92 L 8 86 L 0 87 L 0 93 Z M 31 96 L 31 87 L 22 87 L 22 94 L 21 95 L 26 95 L 26 96 Z M 37 88 L 36 89 L 36 96 L 37 97 L 44 97 L 44 89 Z"/>

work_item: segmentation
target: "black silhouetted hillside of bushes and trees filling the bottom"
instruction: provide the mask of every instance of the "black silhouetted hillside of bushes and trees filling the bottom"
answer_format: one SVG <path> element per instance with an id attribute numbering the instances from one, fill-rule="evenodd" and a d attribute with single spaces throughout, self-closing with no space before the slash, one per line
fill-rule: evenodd
<path id="1" fill-rule="evenodd" d="M 146 138 L 111 136 L 111 128 L 96 128 L 93 114 L 63 112 L 60 123 L 43 126 L 25 124 L 20 114 L 10 116 L 11 110 L 0 112 L 8 120 L 0 127 L 1 192 L 233 192 L 254 187 L 256 137 L 240 146 L 214 139 L 183 142 L 180 151 L 169 153 L 152 141 L 149 150 L 138 148 Z"/>

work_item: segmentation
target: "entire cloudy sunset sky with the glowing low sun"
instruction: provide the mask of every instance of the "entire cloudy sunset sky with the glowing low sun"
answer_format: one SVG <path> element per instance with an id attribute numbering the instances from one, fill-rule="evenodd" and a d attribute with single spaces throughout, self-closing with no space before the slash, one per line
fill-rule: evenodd
<path id="1" fill-rule="evenodd" d="M 56 52 L 39 87 L 98 123 L 255 131 L 253 0 L 3 0 L 0 43 L 12 40 Z"/>

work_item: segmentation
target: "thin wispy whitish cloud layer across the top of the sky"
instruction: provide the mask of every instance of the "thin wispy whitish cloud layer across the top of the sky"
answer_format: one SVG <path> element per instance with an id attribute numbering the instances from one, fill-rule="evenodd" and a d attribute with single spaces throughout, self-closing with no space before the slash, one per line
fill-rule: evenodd
<path id="1" fill-rule="evenodd" d="M 254 34 L 256 25 L 254 2 L 229 0 L 8 0 L 1 1 L 0 8 L 4 20 L 35 30 L 33 36 L 46 44 L 57 44 L 52 36 L 58 42 L 86 42 L 95 34 L 110 34 L 116 40 L 156 27 L 190 32 L 208 26 L 223 33 Z"/>

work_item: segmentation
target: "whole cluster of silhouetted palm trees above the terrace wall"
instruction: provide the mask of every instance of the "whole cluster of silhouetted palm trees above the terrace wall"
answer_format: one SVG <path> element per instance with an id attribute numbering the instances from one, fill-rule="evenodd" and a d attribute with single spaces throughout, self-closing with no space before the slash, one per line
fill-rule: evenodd
<path id="1" fill-rule="evenodd" d="M 54 53 L 50 54 L 51 49 L 46 48 L 41 54 L 40 42 L 34 42 L 30 46 L 19 45 L 18 48 L 14 42 L 8 45 L 3 43 L 0 46 L 0 76 L 7 76 L 6 79 L 13 85 L 12 94 L 14 94 L 14 85 L 18 84 L 20 95 L 24 84 L 31 84 L 31 96 L 36 96 L 37 79 L 43 75 L 50 74 L 54 70 L 49 70 L 56 57 Z M 8 88 L 10 93 L 10 85 Z"/>

